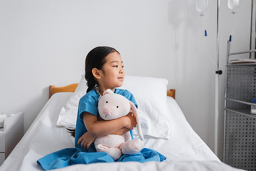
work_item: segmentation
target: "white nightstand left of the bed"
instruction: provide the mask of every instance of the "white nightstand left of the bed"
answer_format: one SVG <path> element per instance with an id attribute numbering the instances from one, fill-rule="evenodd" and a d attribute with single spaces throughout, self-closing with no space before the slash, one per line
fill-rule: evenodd
<path id="1" fill-rule="evenodd" d="M 24 113 L 5 113 L 4 127 L 0 128 L 0 165 L 24 135 Z M 10 114 L 15 114 L 10 116 Z"/>

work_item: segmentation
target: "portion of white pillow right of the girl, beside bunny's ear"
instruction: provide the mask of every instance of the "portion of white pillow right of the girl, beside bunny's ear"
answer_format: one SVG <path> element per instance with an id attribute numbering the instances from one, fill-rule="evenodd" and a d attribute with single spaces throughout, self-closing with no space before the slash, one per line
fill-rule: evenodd
<path id="1" fill-rule="evenodd" d="M 129 90 L 138 104 L 143 135 L 169 138 L 169 116 L 167 112 L 167 79 L 125 76 L 120 89 Z M 137 129 L 133 130 L 138 135 Z"/>

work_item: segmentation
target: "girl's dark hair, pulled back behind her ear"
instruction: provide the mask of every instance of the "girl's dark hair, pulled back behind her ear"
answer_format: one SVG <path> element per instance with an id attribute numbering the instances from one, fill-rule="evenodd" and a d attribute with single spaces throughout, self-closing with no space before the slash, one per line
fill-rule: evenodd
<path id="1" fill-rule="evenodd" d="M 92 70 L 94 68 L 98 70 L 102 70 L 104 64 L 106 63 L 106 56 L 108 56 L 110 53 L 113 53 L 113 52 L 119 53 L 114 48 L 103 46 L 103 47 L 96 47 L 87 54 L 86 76 L 85 76 L 87 80 L 87 86 L 88 86 L 87 93 L 99 86 L 98 81 L 95 79 L 95 77 L 92 74 Z"/>

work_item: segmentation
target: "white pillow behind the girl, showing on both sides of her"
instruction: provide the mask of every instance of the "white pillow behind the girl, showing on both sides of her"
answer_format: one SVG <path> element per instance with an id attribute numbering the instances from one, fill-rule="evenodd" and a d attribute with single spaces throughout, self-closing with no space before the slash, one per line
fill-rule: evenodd
<path id="1" fill-rule="evenodd" d="M 168 81 L 163 78 L 125 76 L 123 86 L 135 97 L 143 135 L 168 139 L 170 125 L 167 114 L 166 91 Z M 84 74 L 67 103 L 62 107 L 57 126 L 75 127 L 79 99 L 86 94 L 87 86 Z M 136 137 L 137 129 L 133 130 Z"/>

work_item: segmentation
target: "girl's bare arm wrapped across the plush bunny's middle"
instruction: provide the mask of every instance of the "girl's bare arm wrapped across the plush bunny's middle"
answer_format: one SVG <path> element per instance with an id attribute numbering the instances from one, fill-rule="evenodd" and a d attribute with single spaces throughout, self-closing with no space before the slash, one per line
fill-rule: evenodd
<path id="1" fill-rule="evenodd" d="M 89 112 L 83 112 L 82 116 L 84 125 L 86 125 L 86 129 L 92 137 L 102 137 L 120 131 L 124 132 L 125 129 L 123 129 L 123 127 L 133 130 L 137 124 L 136 117 L 132 116 L 131 113 L 118 119 L 108 121 L 99 121 L 95 115 Z"/>

